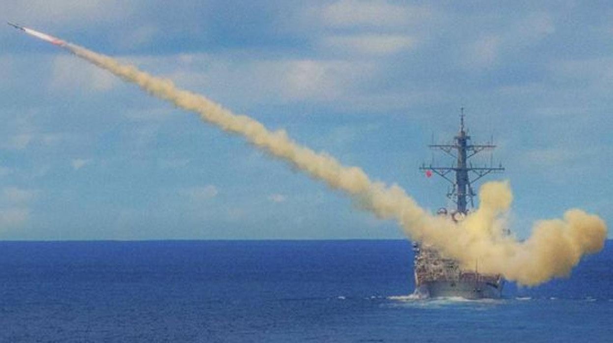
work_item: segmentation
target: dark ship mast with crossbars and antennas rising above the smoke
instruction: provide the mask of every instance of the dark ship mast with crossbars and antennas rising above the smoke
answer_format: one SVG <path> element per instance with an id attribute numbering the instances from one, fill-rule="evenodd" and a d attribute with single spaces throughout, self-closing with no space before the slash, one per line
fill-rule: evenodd
<path id="1" fill-rule="evenodd" d="M 447 197 L 457 204 L 457 211 L 463 214 L 467 212 L 468 199 L 470 199 L 471 207 L 474 207 L 473 198 L 476 194 L 473 191 L 472 184 L 490 172 L 504 171 L 502 164 L 493 167 L 490 162 L 490 166 L 473 167 L 473 164 L 468 162 L 474 155 L 486 149 L 493 149 L 496 145 L 493 145 L 491 141 L 487 144 L 470 144 L 470 136 L 468 136 L 464 127 L 464 107 L 460 108 L 460 131 L 454 137 L 453 144 L 431 144 L 428 147 L 434 150 L 443 150 L 447 155 L 454 158 L 455 164 L 451 167 L 433 166 L 432 163 L 429 166 L 422 164 L 419 169 L 435 172 L 452 184 L 452 188 L 447 192 Z M 455 173 L 455 178 L 449 175 L 451 172 Z M 470 179 L 471 176 L 473 176 L 473 179 Z"/>

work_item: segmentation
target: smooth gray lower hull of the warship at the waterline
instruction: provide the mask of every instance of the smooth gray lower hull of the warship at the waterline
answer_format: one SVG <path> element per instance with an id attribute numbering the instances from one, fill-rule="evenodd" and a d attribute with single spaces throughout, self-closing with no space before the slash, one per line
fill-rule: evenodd
<path id="1" fill-rule="evenodd" d="M 430 281 L 416 288 L 415 294 L 422 298 L 500 299 L 502 285 L 489 282 Z"/>

